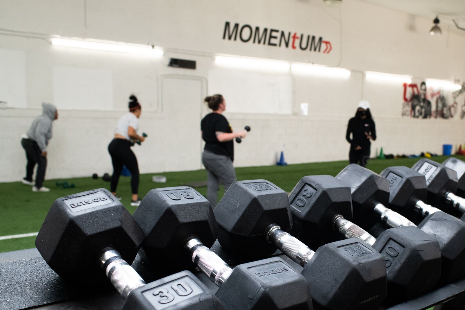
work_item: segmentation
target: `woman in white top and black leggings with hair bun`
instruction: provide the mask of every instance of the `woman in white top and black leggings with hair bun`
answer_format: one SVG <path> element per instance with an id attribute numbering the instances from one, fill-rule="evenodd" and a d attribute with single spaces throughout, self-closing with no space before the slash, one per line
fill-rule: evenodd
<path id="1" fill-rule="evenodd" d="M 133 151 L 131 151 L 131 146 L 137 141 L 144 142 L 145 137 L 137 134 L 142 107 L 136 96 L 131 95 L 129 99 L 129 112 L 118 119 L 114 139 L 108 145 L 108 152 L 112 157 L 113 164 L 113 175 L 110 186 L 112 194 L 118 198 L 118 200 L 121 200 L 121 198 L 116 195 L 116 187 L 118 186 L 123 165 L 125 165 L 129 172 L 131 172 L 131 190 L 133 193 L 131 205 L 139 206 L 141 200 L 138 195 L 139 165 L 137 165 L 136 156 Z"/>

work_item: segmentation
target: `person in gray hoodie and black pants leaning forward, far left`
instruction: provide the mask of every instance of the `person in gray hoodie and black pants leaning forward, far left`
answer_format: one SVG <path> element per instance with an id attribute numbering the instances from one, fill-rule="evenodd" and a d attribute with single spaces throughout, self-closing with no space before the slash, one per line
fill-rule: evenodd
<path id="1" fill-rule="evenodd" d="M 57 108 L 52 104 L 42 103 L 42 115 L 33 120 L 26 135 L 21 139 L 27 158 L 26 178 L 23 178 L 22 182 L 26 185 L 34 185 L 32 191 L 50 191 L 43 186 L 43 183 L 47 168 L 47 145 L 52 139 L 52 125 L 55 119 L 58 119 Z M 32 174 L 36 164 L 34 184 Z"/>

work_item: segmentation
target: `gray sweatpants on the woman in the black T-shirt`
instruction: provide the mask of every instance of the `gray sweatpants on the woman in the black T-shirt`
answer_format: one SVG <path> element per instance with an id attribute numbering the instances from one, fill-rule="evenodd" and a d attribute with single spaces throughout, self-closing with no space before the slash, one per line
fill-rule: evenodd
<path id="1" fill-rule="evenodd" d="M 210 151 L 202 153 L 202 164 L 206 168 L 207 187 L 206 198 L 214 209 L 218 197 L 219 184 L 225 187 L 225 192 L 236 182 L 236 171 L 234 171 L 233 161 L 225 155 L 218 155 Z"/>

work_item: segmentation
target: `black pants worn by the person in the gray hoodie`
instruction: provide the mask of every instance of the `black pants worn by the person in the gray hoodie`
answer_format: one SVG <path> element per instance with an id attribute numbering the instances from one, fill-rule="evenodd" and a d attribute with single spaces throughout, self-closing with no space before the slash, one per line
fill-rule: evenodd
<path id="1" fill-rule="evenodd" d="M 37 164 L 35 186 L 40 188 L 44 184 L 45 170 L 47 168 L 47 158 L 41 155 L 42 151 L 40 150 L 39 145 L 37 145 L 37 142 L 31 139 L 23 138 L 21 139 L 21 145 L 23 146 L 24 151 L 26 151 L 27 158 L 25 179 L 32 181 L 34 166 Z"/>

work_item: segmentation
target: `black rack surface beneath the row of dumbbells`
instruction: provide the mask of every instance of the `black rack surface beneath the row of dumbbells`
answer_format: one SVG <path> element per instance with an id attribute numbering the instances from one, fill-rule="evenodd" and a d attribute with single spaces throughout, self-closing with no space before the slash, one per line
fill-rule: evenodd
<path id="1" fill-rule="evenodd" d="M 234 260 L 221 248 L 218 242 L 213 244 L 212 250 L 222 257 L 227 264 L 234 266 Z M 143 252 L 140 254 L 144 255 Z M 285 255 L 279 253 L 275 255 L 285 260 L 294 270 L 300 271 L 302 269 Z M 159 278 L 139 255 L 134 260 L 133 267 L 147 283 Z M 210 290 L 218 289 L 202 273 L 195 273 L 195 275 Z M 463 299 L 465 299 L 465 279 L 445 285 L 410 301 L 385 308 L 385 310 L 429 309 L 438 304 L 456 304 Z M 35 248 L 0 253 L 0 310 L 30 308 L 42 310 L 113 310 L 121 309 L 123 303 L 124 299 L 110 285 L 94 292 L 85 289 L 76 290 L 48 267 Z"/>

